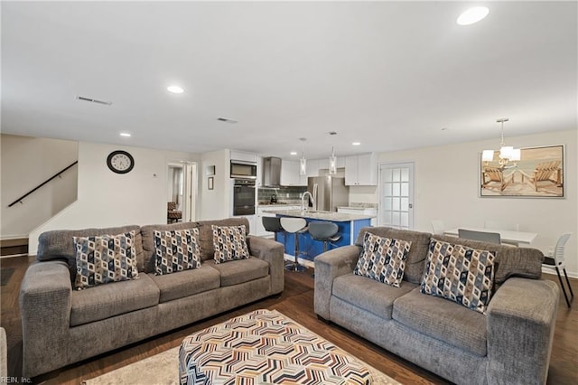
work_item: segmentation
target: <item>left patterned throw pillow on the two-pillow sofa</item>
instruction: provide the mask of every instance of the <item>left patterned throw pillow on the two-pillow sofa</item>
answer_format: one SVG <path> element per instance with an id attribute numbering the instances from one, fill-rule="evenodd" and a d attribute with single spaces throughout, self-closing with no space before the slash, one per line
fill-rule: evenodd
<path id="1" fill-rule="evenodd" d="M 363 251 L 353 273 L 399 287 L 411 246 L 412 242 L 406 240 L 379 237 L 366 232 Z"/>

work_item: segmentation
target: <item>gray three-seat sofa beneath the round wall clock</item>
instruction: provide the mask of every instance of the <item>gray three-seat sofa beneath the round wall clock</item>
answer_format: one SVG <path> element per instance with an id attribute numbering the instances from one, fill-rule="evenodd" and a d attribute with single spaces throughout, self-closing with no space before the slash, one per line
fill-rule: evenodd
<path id="1" fill-rule="evenodd" d="M 247 236 L 251 258 L 215 264 L 212 224 L 244 224 L 248 233 L 244 218 L 42 233 L 39 262 L 26 271 L 20 294 L 23 376 L 53 371 L 283 291 L 283 245 Z M 155 276 L 154 230 L 194 227 L 200 232 L 200 268 Z M 139 277 L 73 290 L 72 237 L 131 230 Z"/>

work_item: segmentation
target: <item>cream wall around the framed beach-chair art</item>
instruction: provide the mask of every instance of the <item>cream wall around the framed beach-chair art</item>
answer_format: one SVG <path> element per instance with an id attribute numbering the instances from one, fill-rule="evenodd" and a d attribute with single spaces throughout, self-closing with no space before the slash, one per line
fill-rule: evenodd
<path id="1" fill-rule="evenodd" d="M 537 232 L 532 246 L 543 251 L 554 246 L 562 233 L 572 232 L 565 250 L 566 269 L 578 277 L 576 134 L 573 129 L 506 139 L 516 147 L 565 146 L 564 199 L 480 198 L 480 152 L 496 147 L 497 140 L 382 153 L 378 162 L 415 162 L 415 230 L 432 231 L 433 219 L 441 219 L 447 228 L 483 227 L 486 219 L 518 223 L 521 231 Z"/>

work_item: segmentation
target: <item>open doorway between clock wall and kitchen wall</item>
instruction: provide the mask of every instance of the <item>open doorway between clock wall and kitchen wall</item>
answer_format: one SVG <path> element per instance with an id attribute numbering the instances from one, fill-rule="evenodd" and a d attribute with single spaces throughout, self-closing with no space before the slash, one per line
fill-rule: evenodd
<path id="1" fill-rule="evenodd" d="M 197 202 L 197 164 L 172 162 L 167 173 L 167 222 L 195 221 Z M 172 214 L 169 208 L 174 207 Z"/>

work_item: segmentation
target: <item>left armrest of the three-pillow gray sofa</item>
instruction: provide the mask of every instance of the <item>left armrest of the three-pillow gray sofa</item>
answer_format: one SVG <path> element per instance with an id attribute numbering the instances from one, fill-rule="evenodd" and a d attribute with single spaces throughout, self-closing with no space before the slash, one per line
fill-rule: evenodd
<path id="1" fill-rule="evenodd" d="M 20 287 L 24 377 L 68 362 L 71 292 L 65 262 L 37 262 L 26 270 Z"/>

